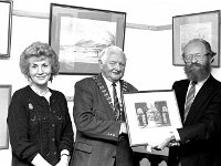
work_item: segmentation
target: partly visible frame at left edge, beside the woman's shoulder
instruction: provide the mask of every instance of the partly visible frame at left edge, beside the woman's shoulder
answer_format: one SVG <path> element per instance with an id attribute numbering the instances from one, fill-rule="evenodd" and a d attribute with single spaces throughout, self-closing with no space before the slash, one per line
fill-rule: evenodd
<path id="1" fill-rule="evenodd" d="M 10 101 L 11 85 L 0 85 L 0 149 L 9 148 L 7 116 Z"/>

